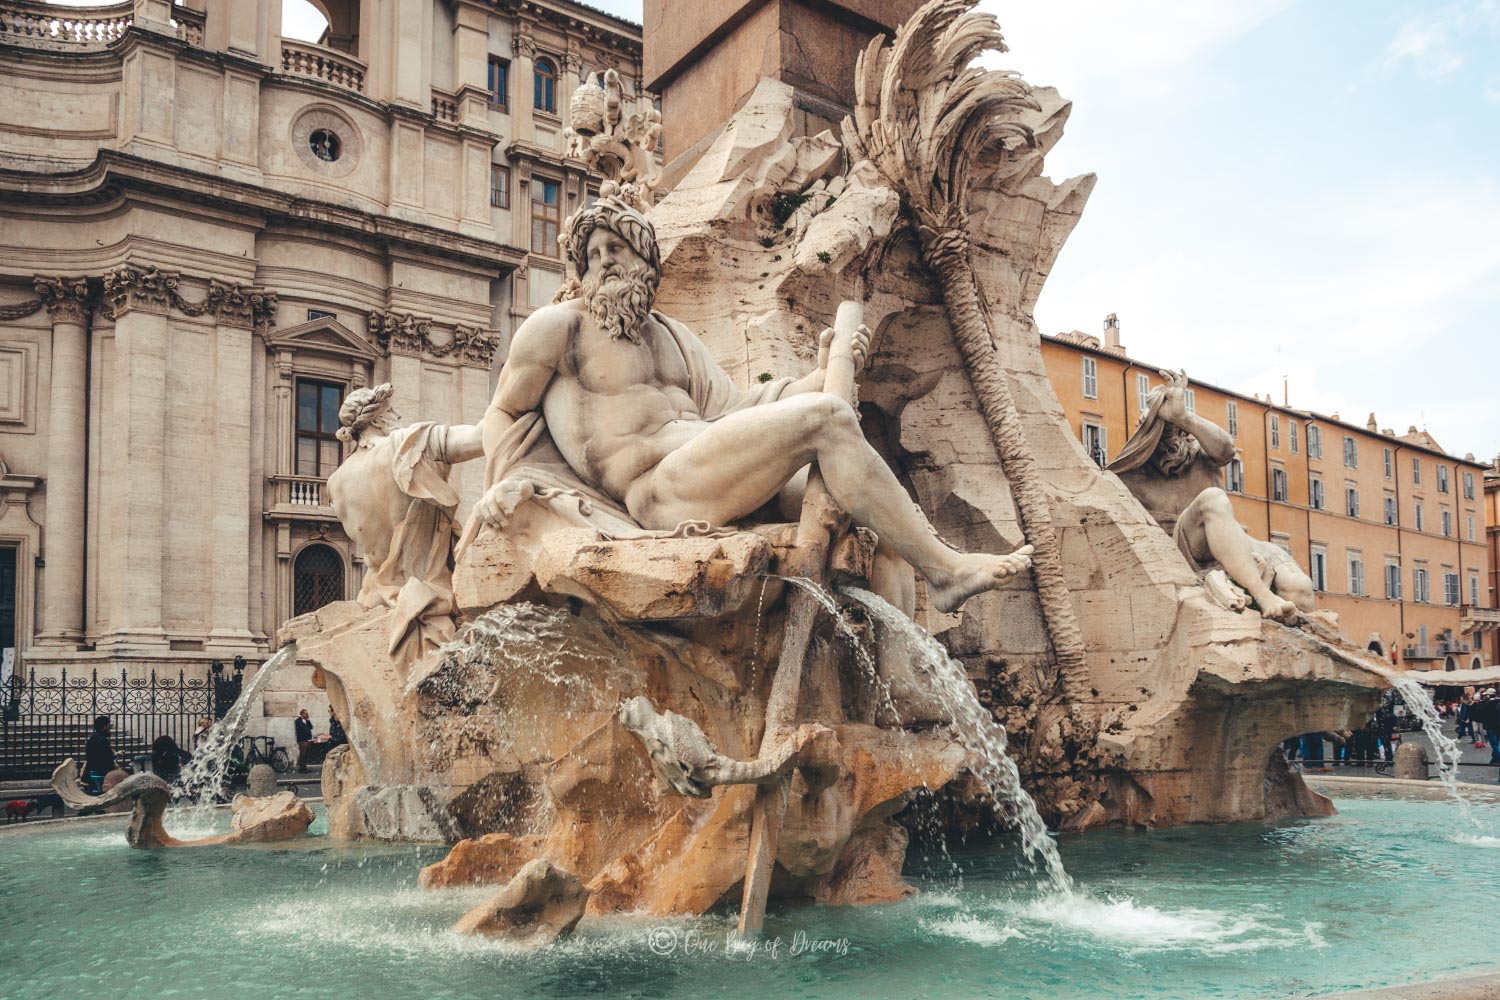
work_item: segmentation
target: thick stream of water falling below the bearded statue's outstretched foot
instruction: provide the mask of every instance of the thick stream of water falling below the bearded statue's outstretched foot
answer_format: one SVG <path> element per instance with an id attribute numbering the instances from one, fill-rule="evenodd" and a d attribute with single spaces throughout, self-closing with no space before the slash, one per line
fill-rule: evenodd
<path id="1" fill-rule="evenodd" d="M 978 762 L 975 777 L 988 789 L 996 813 L 1016 823 L 1022 850 L 1032 864 L 1041 864 L 1053 889 L 1071 897 L 1072 879 L 1062 867 L 1058 846 L 1052 841 L 1041 814 L 1036 813 L 1036 804 L 1022 787 L 1016 762 L 1005 753 L 1005 729 L 994 721 L 987 708 L 980 705 L 963 666 L 956 663 L 942 643 L 921 625 L 884 598 L 856 586 L 840 589 L 868 609 L 882 627 L 902 637 L 912 652 L 914 664 L 932 681 L 933 693 L 948 714 L 958 742 Z"/>

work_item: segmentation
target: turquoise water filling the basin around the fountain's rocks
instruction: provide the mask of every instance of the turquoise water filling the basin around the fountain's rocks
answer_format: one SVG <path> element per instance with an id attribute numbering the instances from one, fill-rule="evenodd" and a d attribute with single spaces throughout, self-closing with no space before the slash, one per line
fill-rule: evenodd
<path id="1" fill-rule="evenodd" d="M 1038 898 L 1004 849 L 914 859 L 921 895 L 772 909 L 741 954 L 729 913 L 585 919 L 542 954 L 460 939 L 486 891 L 417 889 L 440 847 L 138 852 L 112 822 L 22 828 L 0 835 L 0 996 L 1302 997 L 1500 966 L 1500 838 L 1460 834 L 1449 802 L 1338 807 L 1062 838 L 1076 903 Z"/>

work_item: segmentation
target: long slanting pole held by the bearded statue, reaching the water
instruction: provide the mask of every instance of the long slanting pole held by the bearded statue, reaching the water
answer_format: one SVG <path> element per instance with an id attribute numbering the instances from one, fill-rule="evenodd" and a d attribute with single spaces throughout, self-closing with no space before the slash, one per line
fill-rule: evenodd
<path id="1" fill-rule="evenodd" d="M 824 391 L 854 403 L 854 337 L 864 322 L 864 306 L 846 300 L 838 303 L 834 318 L 834 342 L 828 346 L 828 369 L 824 373 Z M 807 475 L 807 492 L 802 495 L 802 517 L 796 526 L 796 549 L 794 549 L 783 576 L 804 576 L 820 583 L 826 576 L 828 544 L 840 511 L 824 486 L 824 477 L 814 465 Z M 765 730 L 760 733 L 760 750 L 770 751 L 784 739 L 796 721 L 796 703 L 802 693 L 802 663 L 807 658 L 807 643 L 813 621 L 818 618 L 818 601 L 801 588 L 792 588 L 788 598 L 786 634 L 782 642 L 782 661 L 776 667 L 771 696 L 765 703 Z M 744 895 L 740 903 L 740 933 L 754 934 L 765 924 L 765 904 L 771 895 L 771 871 L 776 868 L 776 849 L 782 837 L 782 820 L 786 816 L 786 796 L 790 790 L 792 771 L 786 777 L 766 783 L 756 790 L 750 810 L 750 858 L 746 864 Z"/>

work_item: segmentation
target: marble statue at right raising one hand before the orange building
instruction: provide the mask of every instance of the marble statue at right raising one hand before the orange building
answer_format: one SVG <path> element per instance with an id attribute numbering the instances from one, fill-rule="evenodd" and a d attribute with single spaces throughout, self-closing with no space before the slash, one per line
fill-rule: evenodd
<path id="1" fill-rule="evenodd" d="M 1146 397 L 1146 415 L 1107 466 L 1156 519 L 1209 592 L 1226 607 L 1254 598 L 1266 618 L 1312 610 L 1312 580 L 1280 546 L 1251 538 L 1220 487 L 1234 457 L 1234 439 L 1188 409 L 1185 372 L 1162 372 L 1166 385 Z M 1224 580 L 1216 570 L 1228 576 Z"/>

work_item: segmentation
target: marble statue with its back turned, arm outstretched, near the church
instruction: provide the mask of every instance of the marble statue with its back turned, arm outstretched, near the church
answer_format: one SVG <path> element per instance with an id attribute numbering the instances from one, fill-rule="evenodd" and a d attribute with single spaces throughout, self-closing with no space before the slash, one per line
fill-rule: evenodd
<path id="1" fill-rule="evenodd" d="M 338 435 L 354 453 L 328 477 L 328 498 L 369 567 L 356 600 L 393 609 L 388 652 L 411 663 L 453 637 L 459 495 L 448 469 L 483 445 L 477 424 L 399 423 L 388 384 L 350 393 Z"/>

